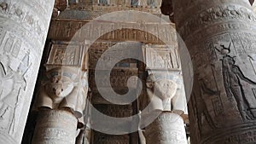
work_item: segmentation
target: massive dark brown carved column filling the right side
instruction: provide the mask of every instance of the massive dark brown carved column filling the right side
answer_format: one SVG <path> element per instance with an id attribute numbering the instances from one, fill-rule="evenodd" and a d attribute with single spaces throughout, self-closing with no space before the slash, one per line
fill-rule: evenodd
<path id="1" fill-rule="evenodd" d="M 192 143 L 256 139 L 256 17 L 247 0 L 173 0 L 177 32 L 194 64 Z"/>

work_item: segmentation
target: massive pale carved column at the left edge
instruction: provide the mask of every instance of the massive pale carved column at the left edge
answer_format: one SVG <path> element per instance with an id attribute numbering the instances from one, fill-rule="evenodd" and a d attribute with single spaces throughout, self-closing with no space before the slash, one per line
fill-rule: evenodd
<path id="1" fill-rule="evenodd" d="M 0 143 L 20 143 L 54 0 L 0 0 Z"/>

